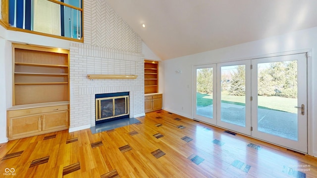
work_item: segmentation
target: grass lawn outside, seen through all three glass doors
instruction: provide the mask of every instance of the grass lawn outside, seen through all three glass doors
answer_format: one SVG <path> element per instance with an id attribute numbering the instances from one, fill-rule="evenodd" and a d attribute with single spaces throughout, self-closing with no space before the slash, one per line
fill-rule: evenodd
<path id="1" fill-rule="evenodd" d="M 212 104 L 212 94 L 197 92 L 197 106 L 205 107 Z M 245 105 L 245 96 L 233 96 L 222 93 L 223 103 Z M 290 113 L 297 113 L 298 109 L 296 98 L 285 98 L 279 96 L 258 96 L 259 108 L 278 110 Z"/>

